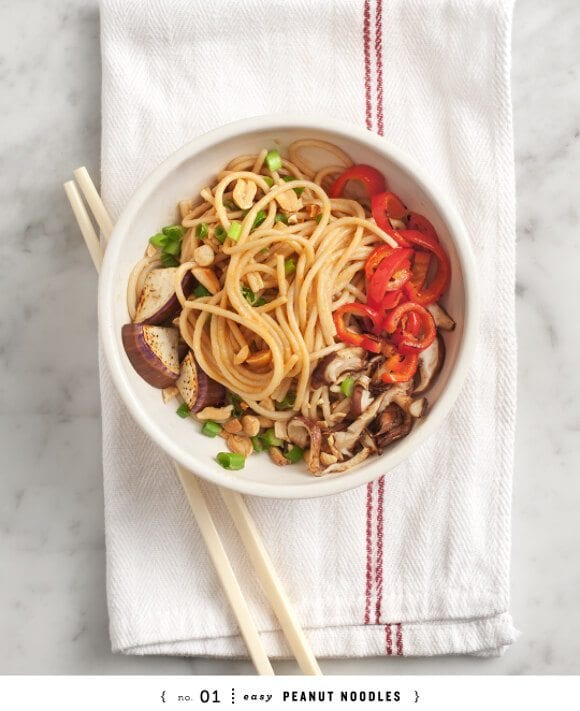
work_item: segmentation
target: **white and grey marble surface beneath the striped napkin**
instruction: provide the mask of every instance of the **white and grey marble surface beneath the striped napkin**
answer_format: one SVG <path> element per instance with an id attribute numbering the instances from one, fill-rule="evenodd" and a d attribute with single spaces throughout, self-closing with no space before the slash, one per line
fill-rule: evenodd
<path id="1" fill-rule="evenodd" d="M 498 659 L 329 661 L 325 673 L 580 671 L 579 34 L 577 0 L 516 6 L 521 638 Z M 98 174 L 97 0 L 3 0 L 0 38 L 0 673 L 251 673 L 110 652 L 96 277 L 61 187 L 81 163 Z"/>

